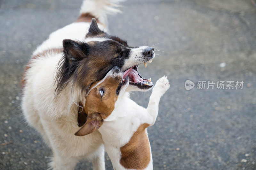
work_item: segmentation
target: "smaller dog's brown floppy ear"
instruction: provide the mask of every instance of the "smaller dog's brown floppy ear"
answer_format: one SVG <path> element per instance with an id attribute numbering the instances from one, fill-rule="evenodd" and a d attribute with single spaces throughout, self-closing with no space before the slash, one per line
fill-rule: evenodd
<path id="1" fill-rule="evenodd" d="M 103 124 L 103 119 L 100 116 L 100 113 L 91 113 L 88 115 L 85 124 L 79 129 L 75 135 L 76 136 L 84 136 L 92 133 L 94 130 L 100 128 Z"/>

